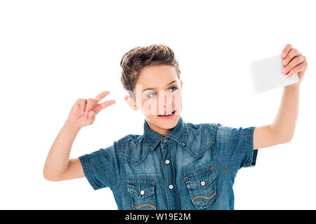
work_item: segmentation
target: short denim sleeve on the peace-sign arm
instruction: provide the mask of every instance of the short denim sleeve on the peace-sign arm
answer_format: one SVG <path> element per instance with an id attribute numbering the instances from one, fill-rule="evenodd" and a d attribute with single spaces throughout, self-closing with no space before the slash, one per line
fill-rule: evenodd
<path id="1" fill-rule="evenodd" d="M 115 143 L 79 157 L 84 175 L 94 190 L 107 187 L 113 190 L 118 186 L 119 156 Z"/>

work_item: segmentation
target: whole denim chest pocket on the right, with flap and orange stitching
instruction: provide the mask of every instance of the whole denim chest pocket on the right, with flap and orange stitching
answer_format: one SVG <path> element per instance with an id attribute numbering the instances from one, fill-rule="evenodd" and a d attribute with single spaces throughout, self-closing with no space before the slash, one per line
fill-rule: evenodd
<path id="1" fill-rule="evenodd" d="M 197 209 L 206 209 L 216 199 L 216 172 L 212 165 L 185 172 L 183 181 Z"/>

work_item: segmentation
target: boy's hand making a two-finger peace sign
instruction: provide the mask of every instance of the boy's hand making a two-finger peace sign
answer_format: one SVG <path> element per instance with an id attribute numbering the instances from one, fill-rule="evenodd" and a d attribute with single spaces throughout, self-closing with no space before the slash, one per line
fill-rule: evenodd
<path id="1" fill-rule="evenodd" d="M 72 106 L 67 122 L 79 128 L 93 124 L 100 111 L 115 103 L 115 100 L 112 99 L 98 104 L 108 94 L 110 91 L 107 90 L 98 94 L 94 99 L 77 99 L 77 102 Z"/>

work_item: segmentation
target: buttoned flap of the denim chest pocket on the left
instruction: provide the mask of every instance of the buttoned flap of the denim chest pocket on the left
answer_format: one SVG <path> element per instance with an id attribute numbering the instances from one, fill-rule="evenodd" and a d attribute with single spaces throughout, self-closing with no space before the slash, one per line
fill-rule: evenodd
<path id="1" fill-rule="evenodd" d="M 145 198 L 154 194 L 154 183 L 153 180 L 129 180 L 127 190 L 133 195 Z"/>

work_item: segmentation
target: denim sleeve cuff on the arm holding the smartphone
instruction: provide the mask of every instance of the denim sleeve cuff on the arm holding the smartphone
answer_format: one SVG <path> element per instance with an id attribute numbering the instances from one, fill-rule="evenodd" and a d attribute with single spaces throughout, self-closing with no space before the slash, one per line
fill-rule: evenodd
<path id="1" fill-rule="evenodd" d="M 243 167 L 254 167 L 258 155 L 258 149 L 254 150 L 254 130 L 256 127 L 249 127 L 246 130 L 246 161 Z"/>

